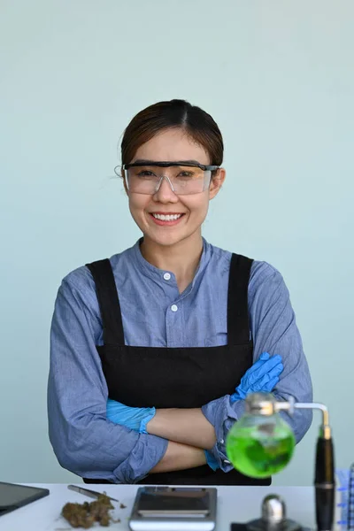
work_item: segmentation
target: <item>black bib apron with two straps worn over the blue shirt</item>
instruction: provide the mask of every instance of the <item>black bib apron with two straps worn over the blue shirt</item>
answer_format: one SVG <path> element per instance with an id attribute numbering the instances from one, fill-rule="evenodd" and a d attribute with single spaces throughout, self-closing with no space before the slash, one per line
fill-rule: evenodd
<path id="1" fill-rule="evenodd" d="M 124 341 L 119 296 L 108 259 L 88 264 L 96 283 L 104 345 L 97 346 L 108 394 L 132 407 L 200 408 L 231 395 L 253 364 L 248 287 L 252 260 L 232 255 L 227 294 L 227 345 L 219 347 L 132 347 Z M 132 316 L 134 319 L 134 316 Z M 86 483 L 108 483 L 91 480 Z M 270 485 L 232 469 L 213 471 L 208 465 L 188 470 L 151 473 L 139 484 Z"/>

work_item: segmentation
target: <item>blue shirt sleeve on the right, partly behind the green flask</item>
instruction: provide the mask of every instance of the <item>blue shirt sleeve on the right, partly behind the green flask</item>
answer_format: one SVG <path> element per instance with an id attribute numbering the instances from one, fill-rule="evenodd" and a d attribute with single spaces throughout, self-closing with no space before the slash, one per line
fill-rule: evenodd
<path id="1" fill-rule="evenodd" d="M 264 262 L 253 263 L 249 284 L 250 333 L 253 338 L 253 362 L 262 352 L 280 354 L 284 370 L 273 390 L 277 400 L 312 402 L 312 381 L 304 356 L 303 343 L 296 326 L 289 290 L 281 273 Z M 206 419 L 215 428 L 217 443 L 212 449 L 224 472 L 232 466 L 227 460 L 225 441 L 229 429 L 244 412 L 244 400 L 230 404 L 229 396 L 213 400 L 202 408 Z M 311 410 L 296 410 L 293 415 L 281 412 L 299 443 L 312 423 Z"/>

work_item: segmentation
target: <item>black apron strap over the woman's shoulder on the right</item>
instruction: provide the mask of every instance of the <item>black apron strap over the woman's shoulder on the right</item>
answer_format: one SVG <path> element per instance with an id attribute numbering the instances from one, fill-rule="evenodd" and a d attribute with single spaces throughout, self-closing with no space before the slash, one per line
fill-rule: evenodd
<path id="1" fill-rule="evenodd" d="M 248 292 L 253 260 L 233 253 L 230 262 L 227 295 L 227 343 L 250 342 Z"/>

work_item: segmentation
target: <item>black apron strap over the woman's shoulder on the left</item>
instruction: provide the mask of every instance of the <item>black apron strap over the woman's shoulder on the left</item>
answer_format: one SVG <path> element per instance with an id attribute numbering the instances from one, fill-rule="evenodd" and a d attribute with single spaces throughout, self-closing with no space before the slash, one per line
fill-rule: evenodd
<path id="1" fill-rule="evenodd" d="M 96 284 L 96 294 L 104 329 L 104 344 L 124 346 L 119 296 L 108 258 L 86 264 Z"/>

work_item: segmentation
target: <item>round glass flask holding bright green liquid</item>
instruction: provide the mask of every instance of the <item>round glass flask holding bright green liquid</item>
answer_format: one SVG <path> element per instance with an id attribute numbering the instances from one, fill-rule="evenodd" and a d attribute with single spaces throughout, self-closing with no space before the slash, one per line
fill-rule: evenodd
<path id="1" fill-rule="evenodd" d="M 280 417 L 247 415 L 227 435 L 227 457 L 239 472 L 261 479 L 288 465 L 295 444 L 291 428 Z"/>

